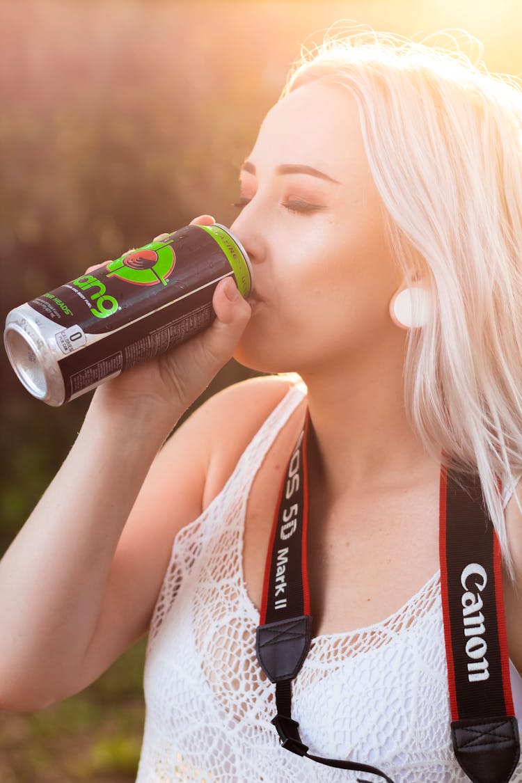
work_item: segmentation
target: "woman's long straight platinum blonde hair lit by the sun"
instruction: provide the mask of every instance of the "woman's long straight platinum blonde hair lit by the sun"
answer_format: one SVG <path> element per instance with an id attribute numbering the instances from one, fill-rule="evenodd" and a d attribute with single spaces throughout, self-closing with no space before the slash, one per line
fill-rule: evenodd
<path id="1" fill-rule="evenodd" d="M 428 453 L 478 473 L 513 578 L 499 479 L 522 474 L 522 84 L 454 33 L 438 34 L 448 48 L 344 27 L 304 51 L 283 96 L 316 79 L 355 96 L 394 258 L 433 305 L 409 330 L 405 409 Z"/>

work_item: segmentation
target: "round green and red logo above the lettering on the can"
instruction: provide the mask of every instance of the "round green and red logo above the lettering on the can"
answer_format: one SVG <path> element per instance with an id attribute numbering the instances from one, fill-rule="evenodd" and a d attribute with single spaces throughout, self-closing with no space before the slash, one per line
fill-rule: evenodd
<path id="1" fill-rule="evenodd" d="M 170 245 L 151 242 L 107 264 L 107 277 L 119 277 L 137 286 L 166 286 L 175 263 L 176 255 Z"/>

